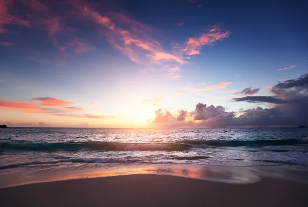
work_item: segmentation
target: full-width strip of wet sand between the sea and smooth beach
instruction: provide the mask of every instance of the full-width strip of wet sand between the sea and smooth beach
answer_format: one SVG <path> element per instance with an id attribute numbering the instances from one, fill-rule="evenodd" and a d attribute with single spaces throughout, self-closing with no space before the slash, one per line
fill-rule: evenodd
<path id="1" fill-rule="evenodd" d="M 57 163 L 0 170 L 0 189 L 54 181 L 142 174 L 230 184 L 252 184 L 264 178 L 273 178 L 308 185 L 308 168 L 292 165 L 234 167 L 201 164 Z"/>

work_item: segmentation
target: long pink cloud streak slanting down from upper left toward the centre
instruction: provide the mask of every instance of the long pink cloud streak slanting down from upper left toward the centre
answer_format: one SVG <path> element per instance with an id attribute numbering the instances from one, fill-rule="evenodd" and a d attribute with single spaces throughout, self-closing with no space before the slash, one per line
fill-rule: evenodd
<path id="1" fill-rule="evenodd" d="M 136 63 L 160 65 L 173 61 L 184 64 L 181 56 L 165 52 L 162 46 L 150 37 L 148 31 L 154 29 L 136 22 L 123 14 L 110 13 L 101 15 L 89 7 L 74 4 L 81 15 L 96 23 L 108 42 Z M 117 24 L 119 23 L 119 24 Z M 125 29 L 124 27 L 125 26 Z"/>

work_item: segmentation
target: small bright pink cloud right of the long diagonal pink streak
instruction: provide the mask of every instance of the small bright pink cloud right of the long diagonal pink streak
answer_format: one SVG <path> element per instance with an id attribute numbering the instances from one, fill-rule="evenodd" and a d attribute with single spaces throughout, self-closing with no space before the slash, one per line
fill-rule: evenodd
<path id="1" fill-rule="evenodd" d="M 200 34 L 198 37 L 190 37 L 183 52 L 187 55 L 200 54 L 202 46 L 212 45 L 218 40 L 229 37 L 230 34 L 229 31 L 222 31 L 219 27 L 214 27 L 208 30 L 208 32 Z"/>

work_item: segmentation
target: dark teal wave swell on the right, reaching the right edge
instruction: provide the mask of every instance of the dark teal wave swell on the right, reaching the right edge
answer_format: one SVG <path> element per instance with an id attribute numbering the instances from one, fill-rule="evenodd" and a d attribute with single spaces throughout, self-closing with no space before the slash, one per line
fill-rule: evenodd
<path id="1" fill-rule="evenodd" d="M 183 140 L 184 144 L 195 146 L 211 146 L 211 147 L 262 147 L 262 146 L 287 146 L 308 143 L 307 138 L 303 139 L 273 139 L 273 140 Z"/>

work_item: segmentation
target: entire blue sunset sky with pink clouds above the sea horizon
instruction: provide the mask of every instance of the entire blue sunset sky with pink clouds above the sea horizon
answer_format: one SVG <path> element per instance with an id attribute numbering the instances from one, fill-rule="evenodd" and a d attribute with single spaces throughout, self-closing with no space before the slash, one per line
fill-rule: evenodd
<path id="1" fill-rule="evenodd" d="M 308 125 L 307 9 L 304 1 L 0 0 L 0 124 Z"/>

